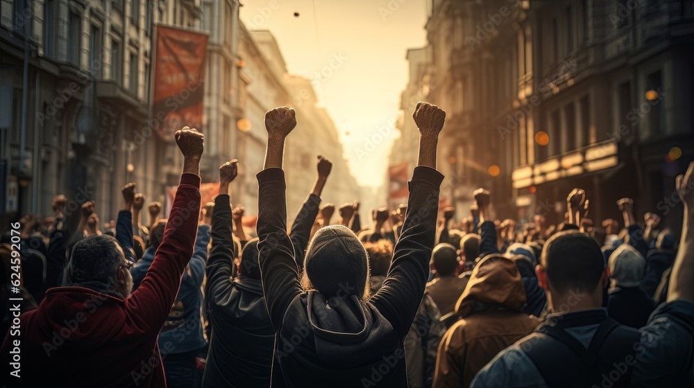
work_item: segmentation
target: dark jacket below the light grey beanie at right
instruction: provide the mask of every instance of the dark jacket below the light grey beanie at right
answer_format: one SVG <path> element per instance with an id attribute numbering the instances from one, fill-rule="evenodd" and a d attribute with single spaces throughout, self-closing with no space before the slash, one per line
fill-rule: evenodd
<path id="1" fill-rule="evenodd" d="M 638 287 L 618 287 L 609 290 L 607 314 L 625 326 L 642 328 L 657 304 Z"/>

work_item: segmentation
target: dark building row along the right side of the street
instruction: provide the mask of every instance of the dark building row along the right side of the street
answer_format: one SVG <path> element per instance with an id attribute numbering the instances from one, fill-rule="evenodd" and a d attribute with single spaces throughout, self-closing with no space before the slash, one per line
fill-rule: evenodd
<path id="1" fill-rule="evenodd" d="M 442 195 L 458 216 L 486 187 L 496 218 L 559 222 L 580 187 L 596 222 L 621 219 L 616 200 L 636 196 L 639 220 L 654 211 L 679 228 L 675 176 L 694 159 L 692 1 L 434 0 L 429 11 L 428 46 L 407 54 L 391 164 L 413 160 L 405 103 L 421 94 L 447 112 Z M 425 50 L 426 61 L 414 54 Z"/>

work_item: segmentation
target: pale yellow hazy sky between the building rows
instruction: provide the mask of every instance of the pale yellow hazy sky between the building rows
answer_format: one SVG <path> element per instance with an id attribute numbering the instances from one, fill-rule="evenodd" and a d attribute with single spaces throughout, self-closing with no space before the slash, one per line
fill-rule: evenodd
<path id="1" fill-rule="evenodd" d="M 399 136 L 394 125 L 408 81 L 407 48 L 426 44 L 427 0 L 242 3 L 246 28 L 270 30 L 287 71 L 314 80 L 357 182 L 384 184 L 391 145 Z"/>

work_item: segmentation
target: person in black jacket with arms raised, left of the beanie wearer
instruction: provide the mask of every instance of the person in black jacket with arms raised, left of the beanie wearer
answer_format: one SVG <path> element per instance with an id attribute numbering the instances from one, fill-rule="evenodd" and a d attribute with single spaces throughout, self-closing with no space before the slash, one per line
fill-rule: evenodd
<path id="1" fill-rule="evenodd" d="M 298 261 L 303 260 L 331 168 L 330 160 L 319 155 L 316 182 L 291 227 L 291 243 Z M 257 238 L 244 245 L 238 276 L 232 276 L 232 208 L 228 191 L 237 171 L 236 160 L 219 167 L 219 195 L 214 199 L 212 212 L 212 247 L 205 285 L 212 334 L 203 376 L 205 388 L 270 386 L 275 332 L 260 285 Z"/>

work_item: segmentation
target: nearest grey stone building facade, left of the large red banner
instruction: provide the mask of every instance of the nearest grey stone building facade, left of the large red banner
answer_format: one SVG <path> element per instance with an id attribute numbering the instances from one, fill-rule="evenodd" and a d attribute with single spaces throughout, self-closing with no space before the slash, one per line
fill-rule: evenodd
<path id="1" fill-rule="evenodd" d="M 2 0 L 0 12 L 3 222 L 49 215 L 57 193 L 72 223 L 85 200 L 108 221 L 127 182 L 164 202 L 175 145 L 146 127 L 154 24 L 196 28 L 199 0 Z"/>

